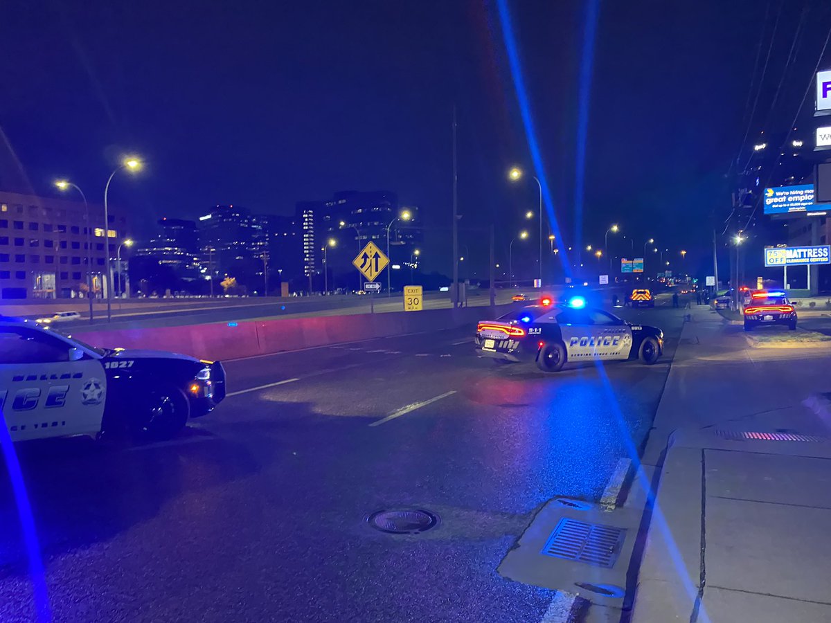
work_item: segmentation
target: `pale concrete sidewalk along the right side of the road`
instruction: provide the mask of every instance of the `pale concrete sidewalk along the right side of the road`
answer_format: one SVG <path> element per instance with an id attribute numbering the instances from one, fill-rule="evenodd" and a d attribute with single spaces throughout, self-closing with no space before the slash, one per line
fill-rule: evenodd
<path id="1" fill-rule="evenodd" d="M 659 467 L 637 623 L 831 621 L 831 346 L 742 334 L 703 306 L 681 334 L 633 485 Z"/>

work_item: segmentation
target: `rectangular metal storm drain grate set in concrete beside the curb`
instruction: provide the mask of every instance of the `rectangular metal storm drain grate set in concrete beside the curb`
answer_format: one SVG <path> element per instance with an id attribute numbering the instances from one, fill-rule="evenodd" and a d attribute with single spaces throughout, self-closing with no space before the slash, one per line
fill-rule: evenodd
<path id="1" fill-rule="evenodd" d="M 541 553 L 611 569 L 620 556 L 626 530 L 562 518 Z"/>

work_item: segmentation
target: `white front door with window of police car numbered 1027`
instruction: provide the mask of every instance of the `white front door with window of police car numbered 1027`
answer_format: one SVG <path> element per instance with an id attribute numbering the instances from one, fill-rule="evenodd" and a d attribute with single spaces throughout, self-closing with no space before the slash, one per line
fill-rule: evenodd
<path id="1" fill-rule="evenodd" d="M 104 369 L 72 346 L 46 331 L 0 326 L 0 409 L 12 441 L 101 430 Z"/>

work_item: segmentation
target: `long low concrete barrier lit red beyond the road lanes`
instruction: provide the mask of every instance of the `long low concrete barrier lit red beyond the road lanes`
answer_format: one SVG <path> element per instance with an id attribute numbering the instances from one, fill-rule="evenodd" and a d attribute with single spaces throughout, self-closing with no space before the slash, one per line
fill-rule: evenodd
<path id="1" fill-rule="evenodd" d="M 200 359 L 238 359 L 465 325 L 470 325 L 472 331 L 477 321 L 504 314 L 517 305 L 72 331 L 72 335 L 93 346 L 172 351 Z"/>

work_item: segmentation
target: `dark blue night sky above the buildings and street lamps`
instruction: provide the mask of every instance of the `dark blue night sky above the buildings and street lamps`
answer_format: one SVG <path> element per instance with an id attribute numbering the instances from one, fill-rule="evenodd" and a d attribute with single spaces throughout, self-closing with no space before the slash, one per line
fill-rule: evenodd
<path id="1" fill-rule="evenodd" d="M 636 248 L 654 236 L 705 261 L 711 213 L 729 202 L 760 30 L 779 15 L 749 140 L 763 122 L 789 125 L 828 32 L 825 4 L 602 2 L 584 243 L 602 244 L 616 222 Z M 543 174 L 570 237 L 583 2 L 509 7 Z M 498 223 L 505 261 L 536 206 L 533 180 L 505 177 L 531 159 L 495 2 L 9 1 L 0 41 L 0 188 L 51 194 L 66 176 L 92 199 L 119 155 L 141 155 L 145 171 L 111 189 L 139 236 L 163 215 L 214 204 L 292 213 L 297 200 L 343 189 L 393 190 L 426 226 L 446 228 L 454 105 L 461 227 Z M 449 270 L 448 241 L 427 235 L 426 267 Z M 462 233 L 484 271 L 483 241 Z"/>

